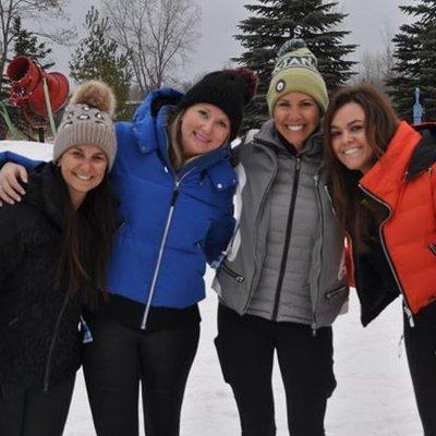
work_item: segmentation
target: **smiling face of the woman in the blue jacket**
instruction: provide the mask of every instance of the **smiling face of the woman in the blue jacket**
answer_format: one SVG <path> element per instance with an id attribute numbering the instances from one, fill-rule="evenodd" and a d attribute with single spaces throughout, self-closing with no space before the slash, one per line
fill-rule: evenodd
<path id="1" fill-rule="evenodd" d="M 217 106 L 193 105 L 182 116 L 181 135 L 185 158 L 204 155 L 220 147 L 228 140 L 229 117 Z"/>

